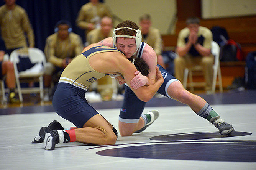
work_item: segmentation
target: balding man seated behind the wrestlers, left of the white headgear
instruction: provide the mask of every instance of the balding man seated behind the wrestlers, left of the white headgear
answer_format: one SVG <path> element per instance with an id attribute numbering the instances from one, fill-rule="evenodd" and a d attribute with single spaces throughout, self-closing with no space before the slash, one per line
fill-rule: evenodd
<path id="1" fill-rule="evenodd" d="M 109 16 L 104 16 L 100 21 L 100 27 L 90 31 L 86 37 L 86 44 L 100 42 L 101 40 L 111 37 L 113 34 L 113 20 Z M 96 83 L 96 82 L 95 82 Z M 97 80 L 98 85 L 112 85 L 112 79 L 109 76 L 102 77 Z M 96 85 L 95 85 L 96 86 Z M 97 88 L 94 87 L 94 88 Z M 97 89 L 102 100 L 108 101 L 112 99 L 113 90 L 110 88 Z"/>

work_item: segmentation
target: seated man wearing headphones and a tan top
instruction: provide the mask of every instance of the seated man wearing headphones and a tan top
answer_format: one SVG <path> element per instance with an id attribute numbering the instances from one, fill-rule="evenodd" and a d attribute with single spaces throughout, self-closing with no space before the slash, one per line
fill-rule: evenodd
<path id="1" fill-rule="evenodd" d="M 67 64 L 83 50 L 82 39 L 79 35 L 72 32 L 69 21 L 61 20 L 57 22 L 54 31 L 54 34 L 46 38 L 44 48 L 44 53 L 48 61 L 44 66 L 45 101 L 49 100 L 49 87 L 52 76 L 57 73 L 60 75 Z"/>

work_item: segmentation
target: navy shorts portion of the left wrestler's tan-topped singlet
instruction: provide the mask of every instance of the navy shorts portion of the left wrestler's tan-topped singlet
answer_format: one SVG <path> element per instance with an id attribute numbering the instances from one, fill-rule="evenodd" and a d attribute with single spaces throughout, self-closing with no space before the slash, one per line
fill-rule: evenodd
<path id="1" fill-rule="evenodd" d="M 68 83 L 59 83 L 53 95 L 53 107 L 58 115 L 82 128 L 94 115 L 99 114 L 85 99 L 85 90 Z"/>

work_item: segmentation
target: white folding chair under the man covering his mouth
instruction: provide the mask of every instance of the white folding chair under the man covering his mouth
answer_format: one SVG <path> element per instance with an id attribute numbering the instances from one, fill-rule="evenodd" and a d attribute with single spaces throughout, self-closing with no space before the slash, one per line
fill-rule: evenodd
<path id="1" fill-rule="evenodd" d="M 220 47 L 218 43 L 212 41 L 211 43 L 211 53 L 215 57 L 214 64 L 213 64 L 213 80 L 212 80 L 212 93 L 215 93 L 216 84 L 218 83 L 220 92 L 223 92 L 222 87 L 222 75 L 220 72 Z M 201 71 L 202 67 L 197 65 L 192 68 L 185 68 L 184 70 L 184 79 L 183 79 L 183 86 L 184 88 L 187 88 L 187 85 L 190 86 L 190 91 L 194 92 L 194 86 L 196 85 L 206 85 L 205 82 L 193 82 L 192 79 L 192 71 Z M 189 76 L 189 83 L 187 83 L 187 79 Z M 218 81 L 217 81 L 218 76 Z"/>

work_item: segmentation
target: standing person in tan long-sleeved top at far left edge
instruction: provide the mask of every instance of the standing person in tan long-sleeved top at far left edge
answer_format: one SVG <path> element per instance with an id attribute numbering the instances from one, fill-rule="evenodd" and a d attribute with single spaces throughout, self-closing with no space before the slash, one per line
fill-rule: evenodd
<path id="1" fill-rule="evenodd" d="M 5 5 L 0 7 L 1 35 L 9 55 L 17 48 L 34 47 L 34 32 L 28 15 L 15 2 L 16 0 L 5 0 Z"/>

